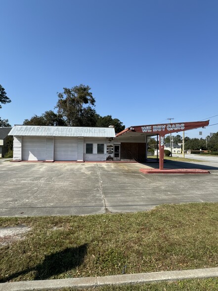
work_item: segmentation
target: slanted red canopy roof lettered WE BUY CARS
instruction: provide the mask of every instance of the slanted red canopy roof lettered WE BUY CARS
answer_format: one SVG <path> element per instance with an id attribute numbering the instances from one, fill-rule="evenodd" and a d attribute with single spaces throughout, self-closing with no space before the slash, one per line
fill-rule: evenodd
<path id="1" fill-rule="evenodd" d="M 151 124 L 151 125 L 137 125 L 131 126 L 123 130 L 122 132 L 116 134 L 119 137 L 127 133 L 141 133 L 146 135 L 162 135 L 170 133 L 177 133 L 180 131 L 186 131 L 191 129 L 196 129 L 199 127 L 205 127 L 209 125 L 209 120 L 207 121 L 194 121 L 194 122 L 177 122 L 177 123 L 163 123 L 163 124 Z"/>

